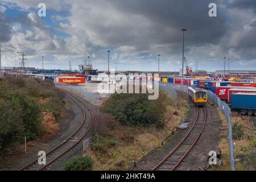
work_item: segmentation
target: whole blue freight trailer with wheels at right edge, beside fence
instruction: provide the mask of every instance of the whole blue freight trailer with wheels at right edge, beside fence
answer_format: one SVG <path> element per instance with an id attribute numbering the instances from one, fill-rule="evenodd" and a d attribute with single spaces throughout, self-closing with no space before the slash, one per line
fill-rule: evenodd
<path id="1" fill-rule="evenodd" d="M 256 94 L 234 93 L 231 95 L 231 109 L 242 114 L 256 115 Z"/>

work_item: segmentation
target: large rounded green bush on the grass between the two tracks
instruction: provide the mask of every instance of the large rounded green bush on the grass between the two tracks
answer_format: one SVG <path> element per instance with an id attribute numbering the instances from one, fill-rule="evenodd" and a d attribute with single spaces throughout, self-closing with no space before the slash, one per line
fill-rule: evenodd
<path id="1" fill-rule="evenodd" d="M 148 100 L 148 94 L 112 94 L 101 110 L 109 113 L 122 125 L 164 127 L 164 112 L 172 104 L 165 92 L 159 92 L 157 100 Z"/>

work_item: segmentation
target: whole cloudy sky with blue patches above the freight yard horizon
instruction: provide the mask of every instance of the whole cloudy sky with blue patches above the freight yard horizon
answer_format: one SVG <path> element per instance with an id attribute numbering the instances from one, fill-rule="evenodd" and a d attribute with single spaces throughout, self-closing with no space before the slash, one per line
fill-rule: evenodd
<path id="1" fill-rule="evenodd" d="M 46 17 L 38 4 L 46 4 Z M 210 17 L 209 3 L 217 4 Z M 31 67 L 78 69 L 87 56 L 94 68 L 179 71 L 181 28 L 187 65 L 215 71 L 256 70 L 255 0 L 0 0 L 2 66 L 18 66 L 24 51 Z"/>

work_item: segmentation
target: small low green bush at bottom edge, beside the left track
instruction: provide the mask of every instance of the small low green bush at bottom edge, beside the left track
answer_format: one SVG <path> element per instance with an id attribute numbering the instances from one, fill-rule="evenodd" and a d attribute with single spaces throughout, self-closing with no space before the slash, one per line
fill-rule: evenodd
<path id="1" fill-rule="evenodd" d="M 92 170 L 93 160 L 90 156 L 76 156 L 64 164 L 65 171 L 90 171 Z"/>

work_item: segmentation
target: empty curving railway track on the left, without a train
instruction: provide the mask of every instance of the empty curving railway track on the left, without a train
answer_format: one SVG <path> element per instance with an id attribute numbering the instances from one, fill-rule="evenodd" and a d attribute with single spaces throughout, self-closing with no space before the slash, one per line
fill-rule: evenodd
<path id="1" fill-rule="evenodd" d="M 63 90 L 65 94 L 72 100 L 74 101 L 79 108 L 82 111 L 82 119 L 79 127 L 67 138 L 65 139 L 62 143 L 60 143 L 58 146 L 55 148 L 52 148 L 52 150 L 48 151 L 46 153 L 46 164 L 44 165 L 39 165 L 38 159 L 34 160 L 30 164 L 27 164 L 26 166 L 22 167 L 19 169 L 19 171 L 43 171 L 46 170 L 48 167 L 50 167 L 53 163 L 57 162 L 61 157 L 63 157 L 65 154 L 67 154 L 69 151 L 71 151 L 73 148 L 77 146 L 81 142 L 81 140 L 86 137 L 86 135 L 89 133 L 90 129 L 92 128 L 92 124 L 94 121 L 94 113 L 92 109 L 88 105 L 86 105 L 84 102 L 80 101 L 79 98 L 76 96 L 73 96 L 73 94 Z M 90 117 L 86 116 L 86 112 L 90 113 Z M 90 123 L 88 126 L 88 123 L 85 122 L 86 118 L 90 119 Z"/>

